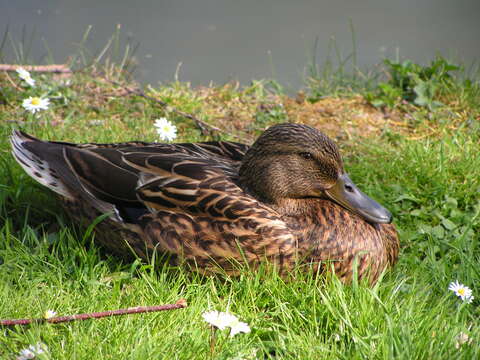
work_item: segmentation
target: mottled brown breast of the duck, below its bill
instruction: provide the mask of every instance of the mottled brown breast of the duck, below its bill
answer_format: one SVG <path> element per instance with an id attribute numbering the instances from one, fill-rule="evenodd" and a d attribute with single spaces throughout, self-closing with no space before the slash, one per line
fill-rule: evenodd
<path id="1" fill-rule="evenodd" d="M 285 220 L 298 239 L 306 262 L 333 266 L 350 281 L 354 269 L 359 278 L 374 282 L 398 256 L 399 240 L 392 224 L 371 224 L 328 200 L 315 200 L 308 215 Z"/>

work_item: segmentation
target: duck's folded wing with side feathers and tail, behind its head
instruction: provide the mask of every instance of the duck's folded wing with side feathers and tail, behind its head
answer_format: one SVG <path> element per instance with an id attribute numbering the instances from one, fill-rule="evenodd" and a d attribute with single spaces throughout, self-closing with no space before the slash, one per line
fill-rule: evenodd
<path id="1" fill-rule="evenodd" d="M 110 212 L 119 224 L 139 225 L 151 246 L 187 260 L 221 264 L 266 256 L 283 262 L 296 249 L 278 214 L 237 184 L 246 145 L 76 145 L 20 132 L 11 141 L 14 156 L 34 179 Z"/>

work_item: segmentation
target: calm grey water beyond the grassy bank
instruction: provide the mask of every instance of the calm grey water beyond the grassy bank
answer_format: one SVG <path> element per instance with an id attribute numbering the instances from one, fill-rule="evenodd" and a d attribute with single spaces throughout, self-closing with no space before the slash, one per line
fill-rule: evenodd
<path id="1" fill-rule="evenodd" d="M 20 41 L 33 35 L 29 57 L 62 63 L 88 25 L 88 48 L 99 51 L 121 24 L 124 41 L 139 42 L 137 79 L 178 78 L 193 85 L 273 77 L 290 89 L 302 84 L 318 38 L 317 58 L 335 38 L 360 67 L 385 56 L 430 61 L 437 52 L 471 64 L 480 58 L 478 0 L 0 0 L 0 31 Z M 44 41 L 42 40 L 44 39 Z M 28 41 L 27 41 L 28 42 Z M 3 61 L 15 59 L 10 46 Z M 179 64 L 182 64 L 179 67 Z"/>

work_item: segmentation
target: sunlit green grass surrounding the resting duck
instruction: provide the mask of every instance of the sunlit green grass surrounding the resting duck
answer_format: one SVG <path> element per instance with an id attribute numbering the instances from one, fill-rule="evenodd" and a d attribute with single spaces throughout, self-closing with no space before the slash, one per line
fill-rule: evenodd
<path id="1" fill-rule="evenodd" d="M 66 315 L 180 298 L 189 306 L 2 328 L 0 358 L 14 358 L 39 341 L 48 346 L 45 358 L 51 359 L 208 358 L 210 330 L 201 314 L 210 309 L 230 311 L 252 328 L 233 339 L 222 333 L 216 359 L 480 357 L 479 301 L 464 304 L 447 290 L 451 281 L 459 280 L 480 298 L 480 106 L 473 90 L 464 87 L 441 109 L 408 109 L 426 128 L 434 127 L 435 136 L 411 139 L 384 129 L 376 138 L 342 143 L 352 179 L 392 211 L 401 235 L 398 264 L 369 288 L 300 271 L 282 279 L 268 266 L 235 278 L 203 277 L 158 260 L 122 263 L 104 254 L 94 244 L 94 234 L 71 224 L 52 194 L 15 163 L 8 145 L 11 129 L 75 142 L 154 141 L 153 120 L 167 115 L 179 128 L 178 141 L 210 137 L 188 120 L 143 98 L 121 95 L 86 72 L 74 75 L 69 86 L 46 75 L 35 78 L 43 85 L 33 90 L 14 89 L 0 79 L 5 85 L 0 95 L 0 318 L 41 317 L 47 309 Z M 266 101 L 268 92 L 255 86 L 218 89 L 218 96 L 254 104 Z M 19 105 L 34 93 L 52 98 L 52 107 L 39 117 L 25 114 Z M 215 123 L 215 116 L 205 110 L 205 97 L 186 84 L 150 93 Z M 456 119 L 451 114 L 462 111 L 469 113 L 465 119 L 473 119 L 470 125 L 457 121 L 452 130 L 453 120 L 441 121 L 443 114 Z M 278 120 L 276 114 L 257 114 L 252 122 L 266 126 Z M 280 115 L 283 121 L 285 115 Z M 457 349 L 460 332 L 472 342 Z"/>

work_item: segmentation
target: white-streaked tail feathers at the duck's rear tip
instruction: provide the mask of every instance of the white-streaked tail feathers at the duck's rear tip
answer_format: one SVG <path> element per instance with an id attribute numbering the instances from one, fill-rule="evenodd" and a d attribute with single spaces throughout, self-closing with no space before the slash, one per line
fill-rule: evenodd
<path id="1" fill-rule="evenodd" d="M 13 131 L 10 143 L 12 144 L 12 155 L 28 175 L 57 194 L 69 199 L 73 198 L 72 193 L 60 180 L 57 170 L 50 166 L 49 160 L 51 159 L 45 159 L 39 155 L 51 155 L 52 151 L 49 147 L 54 144 L 36 139 L 18 130 Z"/>

